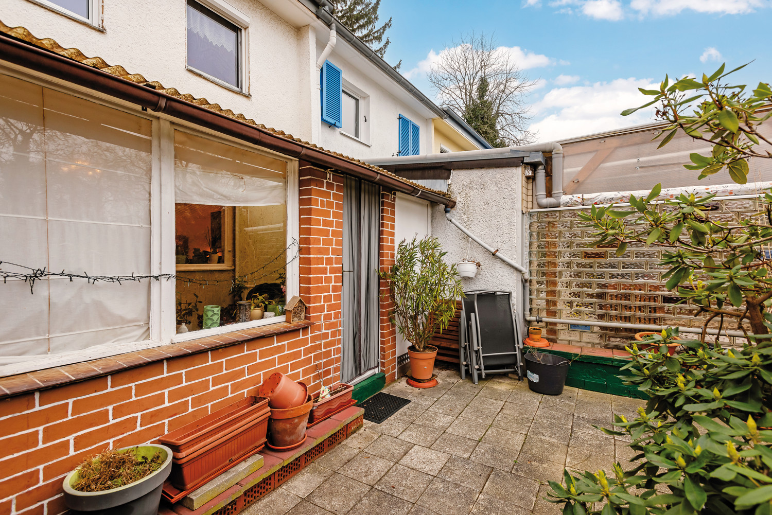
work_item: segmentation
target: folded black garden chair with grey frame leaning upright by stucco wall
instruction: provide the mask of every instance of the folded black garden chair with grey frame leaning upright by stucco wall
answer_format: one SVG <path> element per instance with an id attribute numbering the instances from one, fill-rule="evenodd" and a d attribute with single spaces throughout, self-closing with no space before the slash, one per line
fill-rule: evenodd
<path id="1" fill-rule="evenodd" d="M 518 334 L 512 309 L 512 293 L 495 290 L 466 292 L 472 303 L 470 328 L 472 334 L 472 379 L 477 371 L 484 379 L 486 374 L 515 372 L 523 380 L 523 341 Z M 475 381 L 477 382 L 477 381 Z"/>

